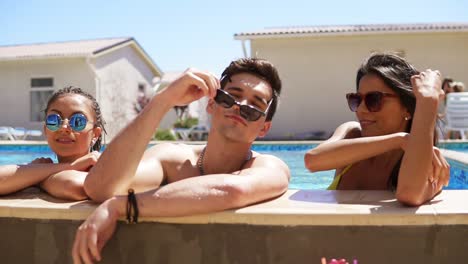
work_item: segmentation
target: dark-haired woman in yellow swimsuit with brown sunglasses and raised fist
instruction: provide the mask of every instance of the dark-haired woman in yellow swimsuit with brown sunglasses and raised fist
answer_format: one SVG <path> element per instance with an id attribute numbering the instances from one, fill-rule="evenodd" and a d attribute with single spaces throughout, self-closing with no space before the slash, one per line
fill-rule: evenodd
<path id="1" fill-rule="evenodd" d="M 394 190 L 418 206 L 449 181 L 435 130 L 443 96 L 438 71 L 417 71 L 405 59 L 373 54 L 359 68 L 356 93 L 346 95 L 358 122 L 340 125 L 305 155 L 310 171 L 336 169 L 331 190 Z"/>

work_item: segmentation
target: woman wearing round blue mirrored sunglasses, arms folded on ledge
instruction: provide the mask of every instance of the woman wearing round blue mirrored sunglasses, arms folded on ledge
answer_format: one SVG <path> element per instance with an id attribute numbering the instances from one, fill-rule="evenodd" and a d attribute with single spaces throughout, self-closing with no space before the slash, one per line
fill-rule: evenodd
<path id="1" fill-rule="evenodd" d="M 104 121 L 93 96 L 77 87 L 56 91 L 45 109 L 44 133 L 56 154 L 37 158 L 27 165 L 0 166 L 0 194 L 38 185 L 62 199 L 83 200 L 88 170 L 97 162 Z"/>

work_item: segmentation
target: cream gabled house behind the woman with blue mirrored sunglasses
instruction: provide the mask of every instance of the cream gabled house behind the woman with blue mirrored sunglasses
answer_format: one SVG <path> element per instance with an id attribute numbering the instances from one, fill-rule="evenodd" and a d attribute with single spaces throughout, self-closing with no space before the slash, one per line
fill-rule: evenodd
<path id="1" fill-rule="evenodd" d="M 162 74 L 133 38 L 0 46 L 0 126 L 42 129 L 48 97 L 73 85 L 96 97 L 109 142 Z"/>

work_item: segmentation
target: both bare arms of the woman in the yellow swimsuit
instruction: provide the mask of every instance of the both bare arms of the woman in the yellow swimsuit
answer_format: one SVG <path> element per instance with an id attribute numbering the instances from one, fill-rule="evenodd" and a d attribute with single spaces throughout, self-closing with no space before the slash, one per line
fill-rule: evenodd
<path id="1" fill-rule="evenodd" d="M 385 164 L 390 160 L 388 157 L 394 158 L 392 152 L 401 155 L 398 152 L 403 151 L 396 198 L 401 203 L 411 206 L 419 206 L 431 200 L 448 184 L 450 177 L 447 161 L 439 149 L 433 146 L 437 104 L 441 95 L 440 78 L 436 72 L 428 70 L 413 76 L 412 86 L 416 96 L 416 108 L 411 117 L 410 133 L 396 132 L 364 137 L 361 135 L 362 128 L 359 123 L 348 122 L 338 127 L 329 140 L 305 155 L 306 167 L 310 171 L 337 169 L 339 172 L 353 164 L 350 171 L 359 165 L 370 170 L 377 161 L 383 161 L 382 164 Z M 350 171 L 343 177 L 350 176 Z M 384 177 L 391 174 L 391 171 L 382 171 L 383 167 L 379 167 L 374 173 L 380 173 L 380 176 Z M 357 174 L 365 172 L 361 169 L 352 173 L 353 176 L 360 176 Z M 359 186 L 356 182 L 354 186 Z"/>

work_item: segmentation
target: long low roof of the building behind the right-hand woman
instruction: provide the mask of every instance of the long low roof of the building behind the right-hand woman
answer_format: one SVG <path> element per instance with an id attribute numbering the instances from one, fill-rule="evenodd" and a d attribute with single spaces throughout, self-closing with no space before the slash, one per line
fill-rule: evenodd
<path id="1" fill-rule="evenodd" d="M 421 24 L 369 24 L 337 26 L 298 26 L 266 28 L 259 31 L 234 34 L 234 39 L 303 37 L 325 35 L 357 35 L 411 32 L 468 32 L 467 23 L 421 23 Z"/>

